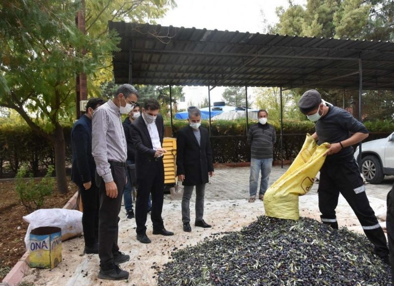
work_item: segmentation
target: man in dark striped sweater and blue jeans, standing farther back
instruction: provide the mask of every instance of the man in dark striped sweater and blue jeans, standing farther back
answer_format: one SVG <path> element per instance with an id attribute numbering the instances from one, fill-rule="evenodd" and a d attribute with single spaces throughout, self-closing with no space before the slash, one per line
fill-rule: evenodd
<path id="1" fill-rule="evenodd" d="M 257 113 L 259 122 L 252 125 L 248 132 L 248 144 L 251 146 L 250 177 L 249 177 L 249 203 L 254 203 L 257 194 L 259 173 L 260 181 L 259 199 L 264 199 L 268 188 L 269 175 L 271 174 L 273 145 L 276 142 L 275 128 L 267 123 L 268 112 L 260 109 Z"/>

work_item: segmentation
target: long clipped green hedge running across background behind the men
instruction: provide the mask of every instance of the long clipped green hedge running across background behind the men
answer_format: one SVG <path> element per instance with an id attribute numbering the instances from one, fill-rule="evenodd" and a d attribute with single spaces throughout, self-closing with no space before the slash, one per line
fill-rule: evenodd
<path id="1" fill-rule="evenodd" d="M 250 121 L 249 126 L 255 122 Z M 274 125 L 277 132 L 277 143 L 274 146 L 274 160 L 280 160 L 280 123 L 269 122 Z M 169 119 L 164 122 L 170 126 Z M 173 135 L 187 126 L 186 120 L 173 120 Z M 202 126 L 209 128 L 207 120 Z M 366 141 L 384 138 L 394 131 L 394 123 L 390 121 L 365 122 L 371 132 Z M 66 140 L 66 167 L 71 167 L 71 127 L 65 126 Z M 306 133 L 314 132 L 314 124 L 309 121 L 283 122 L 283 159 L 293 160 Z M 246 122 L 237 120 L 212 121 L 211 144 L 215 163 L 248 162 L 250 161 L 250 148 L 246 143 Z M 49 165 L 54 165 L 54 150 L 51 143 L 38 136 L 26 124 L 0 124 L 0 178 L 14 177 L 22 163 L 28 166 L 28 172 L 35 177 L 45 175 Z"/>

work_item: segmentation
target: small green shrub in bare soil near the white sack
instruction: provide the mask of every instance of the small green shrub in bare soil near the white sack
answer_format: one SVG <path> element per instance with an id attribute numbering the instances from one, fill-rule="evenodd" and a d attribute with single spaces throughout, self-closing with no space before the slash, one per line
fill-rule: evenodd
<path id="1" fill-rule="evenodd" d="M 55 186 L 55 179 L 51 177 L 53 171 L 54 167 L 49 166 L 45 177 L 36 182 L 32 173 L 29 174 L 29 179 L 25 179 L 27 173 L 25 165 L 19 168 L 15 188 L 19 199 L 29 213 L 40 209 L 44 204 L 45 197 L 53 193 Z"/>

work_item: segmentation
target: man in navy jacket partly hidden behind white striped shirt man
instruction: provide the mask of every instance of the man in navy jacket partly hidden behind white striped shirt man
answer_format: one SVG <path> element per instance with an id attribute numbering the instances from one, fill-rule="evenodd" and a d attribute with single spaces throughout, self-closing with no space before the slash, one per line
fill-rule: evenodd
<path id="1" fill-rule="evenodd" d="M 92 98 L 86 104 L 86 113 L 75 122 L 71 131 L 72 169 L 71 180 L 78 186 L 82 199 L 82 227 L 85 253 L 99 253 L 99 188 L 95 182 L 96 163 L 92 156 L 92 115 L 104 104 Z"/>

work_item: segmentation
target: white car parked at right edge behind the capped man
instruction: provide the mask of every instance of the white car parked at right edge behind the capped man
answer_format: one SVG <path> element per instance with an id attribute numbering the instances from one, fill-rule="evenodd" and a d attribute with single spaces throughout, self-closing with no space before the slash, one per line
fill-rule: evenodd
<path id="1" fill-rule="evenodd" d="M 357 147 L 354 153 L 357 163 L 359 153 Z M 367 182 L 378 184 L 385 175 L 394 175 L 394 132 L 389 137 L 362 143 L 361 153 L 360 172 Z"/>

